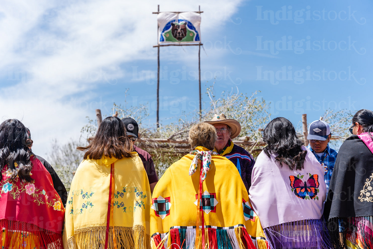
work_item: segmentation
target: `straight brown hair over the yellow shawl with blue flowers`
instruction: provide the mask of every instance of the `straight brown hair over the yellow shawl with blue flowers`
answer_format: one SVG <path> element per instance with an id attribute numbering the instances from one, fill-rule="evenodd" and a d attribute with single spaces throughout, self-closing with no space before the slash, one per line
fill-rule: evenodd
<path id="1" fill-rule="evenodd" d="M 76 149 L 85 152 L 84 159 L 98 160 L 103 156 L 122 159 L 132 157 L 133 146 L 123 122 L 117 117 L 107 117 L 101 122 L 91 143 Z"/>

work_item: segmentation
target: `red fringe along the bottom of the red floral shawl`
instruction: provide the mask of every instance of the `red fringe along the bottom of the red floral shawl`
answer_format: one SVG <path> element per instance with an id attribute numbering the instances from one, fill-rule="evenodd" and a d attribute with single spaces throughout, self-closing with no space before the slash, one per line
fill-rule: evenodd
<path id="1" fill-rule="evenodd" d="M 62 234 L 22 221 L 0 220 L 0 239 L 2 248 L 63 248 Z"/>

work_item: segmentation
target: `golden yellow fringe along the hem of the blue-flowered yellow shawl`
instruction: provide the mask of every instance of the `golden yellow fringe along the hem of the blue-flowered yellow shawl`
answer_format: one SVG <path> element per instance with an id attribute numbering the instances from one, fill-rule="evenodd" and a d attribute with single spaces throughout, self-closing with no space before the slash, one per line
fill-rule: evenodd
<path id="1" fill-rule="evenodd" d="M 117 241 L 117 248 L 121 249 L 150 249 L 150 236 L 143 225 L 134 227 L 109 227 L 109 243 L 107 248 L 114 248 L 113 229 Z M 105 245 L 106 227 L 85 227 L 74 230 L 65 248 L 92 249 Z"/>

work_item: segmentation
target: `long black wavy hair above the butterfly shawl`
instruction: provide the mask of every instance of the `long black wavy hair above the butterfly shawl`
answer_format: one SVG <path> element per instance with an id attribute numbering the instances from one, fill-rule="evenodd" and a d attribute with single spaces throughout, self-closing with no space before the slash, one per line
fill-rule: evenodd
<path id="1" fill-rule="evenodd" d="M 282 164 L 287 164 L 291 170 L 302 169 L 307 150 L 302 150 L 304 144 L 297 137 L 294 126 L 286 118 L 275 118 L 264 128 L 263 141 L 267 146 L 263 148 L 264 153 Z"/>

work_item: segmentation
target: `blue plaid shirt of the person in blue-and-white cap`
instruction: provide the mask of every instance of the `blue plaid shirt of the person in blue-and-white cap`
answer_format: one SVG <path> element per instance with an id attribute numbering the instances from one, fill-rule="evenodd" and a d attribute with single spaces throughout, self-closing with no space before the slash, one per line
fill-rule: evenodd
<path id="1" fill-rule="evenodd" d="M 326 149 L 322 156 L 319 156 L 314 152 L 310 145 L 308 145 L 308 149 L 311 150 L 313 155 L 315 155 L 317 161 L 323 166 L 324 169 L 324 180 L 326 183 L 326 194 L 329 192 L 329 183 L 330 178 L 332 178 L 332 173 L 334 169 L 335 159 L 337 158 L 338 152 L 333 149 L 330 149 L 329 144 L 326 146 Z M 324 159 L 325 158 L 325 159 Z"/>

